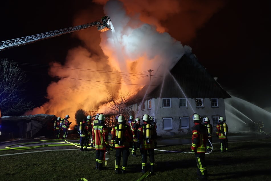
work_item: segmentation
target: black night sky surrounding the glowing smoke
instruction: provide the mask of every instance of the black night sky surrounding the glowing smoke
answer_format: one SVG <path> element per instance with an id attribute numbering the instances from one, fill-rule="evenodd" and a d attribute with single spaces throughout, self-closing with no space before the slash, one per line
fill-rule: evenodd
<path id="1" fill-rule="evenodd" d="M 43 5 L 25 1 L 2 2 L 0 41 L 79 25 L 75 24 L 74 19 L 86 9 L 93 16 L 88 16 L 87 22 L 78 20 L 81 24 L 96 21 L 104 15 L 103 5 L 97 2 L 105 1 L 63 2 L 65 4 L 44 2 Z M 148 2 L 154 8 L 157 6 L 156 1 Z M 168 1 L 172 2 L 178 1 Z M 167 17 L 160 17 L 157 12 L 149 14 L 158 17 L 161 26 L 173 38 L 183 45 L 189 45 L 199 62 L 212 77 L 217 77 L 218 83 L 230 95 L 270 110 L 271 2 L 229 0 L 208 1 L 208 5 L 199 1 L 187 2 L 180 5 L 182 11 L 173 12 Z M 202 17 L 205 19 L 198 23 Z M 68 50 L 79 45 L 82 45 L 82 41 L 69 33 L 3 50 L 0 58 L 23 63 L 19 66 L 29 79 L 26 99 L 40 106 L 46 102 L 47 86 L 55 80 L 48 75 L 49 62 L 64 63 Z M 93 42 L 94 46 L 99 47 L 99 42 Z M 93 53 L 99 54 L 99 51 L 95 49 Z"/>

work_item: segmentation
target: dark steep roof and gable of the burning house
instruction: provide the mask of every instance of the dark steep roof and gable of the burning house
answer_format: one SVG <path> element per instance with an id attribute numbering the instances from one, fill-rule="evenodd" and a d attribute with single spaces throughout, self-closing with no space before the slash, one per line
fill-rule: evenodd
<path id="1" fill-rule="evenodd" d="M 135 102 L 142 100 L 147 87 L 139 91 Z M 162 92 L 161 92 L 162 91 Z M 194 54 L 183 55 L 164 80 L 149 90 L 145 100 L 150 98 L 230 98 L 231 96 L 209 75 Z"/>

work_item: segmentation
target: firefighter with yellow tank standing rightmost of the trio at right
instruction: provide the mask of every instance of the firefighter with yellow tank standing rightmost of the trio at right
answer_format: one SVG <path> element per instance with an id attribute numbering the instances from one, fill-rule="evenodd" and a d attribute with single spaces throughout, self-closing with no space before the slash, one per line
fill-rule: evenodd
<path id="1" fill-rule="evenodd" d="M 219 138 L 221 153 L 228 152 L 228 125 L 223 116 L 219 117 L 219 124 L 216 126 L 216 135 Z"/>

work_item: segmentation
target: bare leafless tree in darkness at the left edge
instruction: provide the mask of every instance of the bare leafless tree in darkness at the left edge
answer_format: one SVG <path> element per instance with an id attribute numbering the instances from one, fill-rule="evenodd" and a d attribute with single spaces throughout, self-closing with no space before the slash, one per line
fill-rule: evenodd
<path id="1" fill-rule="evenodd" d="M 0 108 L 2 115 L 20 115 L 34 107 L 32 102 L 21 98 L 27 82 L 26 74 L 17 64 L 7 59 L 0 60 Z"/>

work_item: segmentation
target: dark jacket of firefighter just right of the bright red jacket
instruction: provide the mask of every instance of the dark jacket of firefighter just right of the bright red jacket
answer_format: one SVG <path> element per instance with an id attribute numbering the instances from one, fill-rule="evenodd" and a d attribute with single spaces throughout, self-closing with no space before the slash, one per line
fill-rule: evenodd
<path id="1" fill-rule="evenodd" d="M 119 124 L 115 125 L 111 129 L 111 146 L 117 148 L 130 147 L 133 142 L 133 133 L 129 125 L 122 124 L 122 130 L 119 130 Z M 119 131 L 122 131 L 122 139 L 119 141 Z M 121 143 L 119 145 L 119 142 Z"/>

